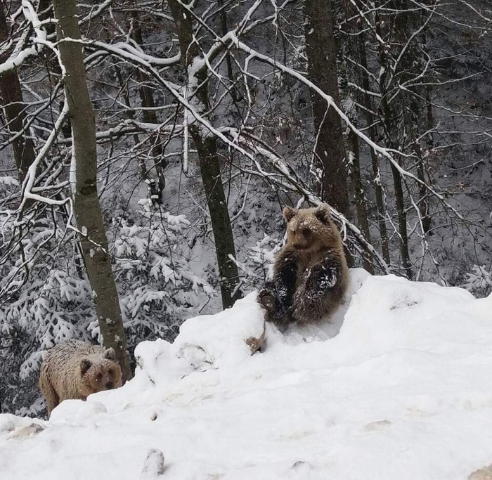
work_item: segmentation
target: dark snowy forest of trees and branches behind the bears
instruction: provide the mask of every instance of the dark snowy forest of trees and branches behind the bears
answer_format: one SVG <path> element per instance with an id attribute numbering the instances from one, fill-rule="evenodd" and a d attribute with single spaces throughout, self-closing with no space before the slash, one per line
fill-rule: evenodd
<path id="1" fill-rule="evenodd" d="M 254 290 L 284 205 L 328 202 L 353 266 L 489 294 L 491 22 L 487 0 L 0 0 L 0 412 L 43 413 L 59 342 L 115 346 L 129 378 L 138 342 Z"/>

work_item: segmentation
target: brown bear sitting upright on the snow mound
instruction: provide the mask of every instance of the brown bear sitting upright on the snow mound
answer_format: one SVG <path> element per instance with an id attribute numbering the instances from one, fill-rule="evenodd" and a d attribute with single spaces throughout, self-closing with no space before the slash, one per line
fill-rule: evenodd
<path id="1" fill-rule="evenodd" d="M 273 282 L 259 291 L 258 300 L 273 323 L 316 322 L 338 308 L 347 290 L 342 238 L 328 205 L 285 207 L 283 217 L 287 243 L 273 266 Z"/>

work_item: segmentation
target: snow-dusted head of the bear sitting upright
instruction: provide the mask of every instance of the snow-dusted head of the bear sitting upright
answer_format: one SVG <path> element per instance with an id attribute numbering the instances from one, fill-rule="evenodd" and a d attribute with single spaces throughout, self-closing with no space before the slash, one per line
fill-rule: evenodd
<path id="1" fill-rule="evenodd" d="M 328 205 L 299 210 L 285 207 L 282 214 L 287 222 L 287 245 L 294 249 L 318 252 L 342 247 L 342 240 L 332 221 Z"/>

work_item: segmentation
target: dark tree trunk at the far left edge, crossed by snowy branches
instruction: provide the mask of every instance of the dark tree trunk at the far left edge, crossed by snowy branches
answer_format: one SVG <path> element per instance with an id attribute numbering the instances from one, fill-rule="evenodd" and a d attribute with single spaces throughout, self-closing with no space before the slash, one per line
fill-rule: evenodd
<path id="1" fill-rule="evenodd" d="M 4 12 L 4 2 L 2 1 L 0 3 L 0 44 L 8 41 L 8 39 L 9 32 Z M 5 56 L 0 56 L 0 63 L 6 61 L 7 58 L 8 52 Z M 4 105 L 5 122 L 9 134 L 15 136 L 15 134 L 23 131 L 23 134 L 12 142 L 18 178 L 20 182 L 23 182 L 27 170 L 36 158 L 36 153 L 34 152 L 34 144 L 29 138 L 29 132 L 24 130 L 26 119 L 24 98 L 22 98 L 20 81 L 15 70 L 0 75 L 0 96 L 1 105 Z"/>

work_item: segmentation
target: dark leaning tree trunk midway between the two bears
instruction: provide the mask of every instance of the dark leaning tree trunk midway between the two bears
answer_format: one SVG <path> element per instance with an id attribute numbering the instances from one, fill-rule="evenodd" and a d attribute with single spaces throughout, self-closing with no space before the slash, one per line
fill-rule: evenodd
<path id="1" fill-rule="evenodd" d="M 187 69 L 187 74 L 189 74 L 188 66 L 200 56 L 198 48 L 193 42 L 191 15 L 177 0 L 169 0 L 168 4 L 178 32 L 181 61 Z M 201 103 L 198 108 L 202 110 L 202 113 L 207 112 L 210 108 L 210 101 L 206 67 L 193 74 L 195 76 L 193 83 L 200 85 L 196 95 Z M 190 79 L 188 78 L 189 83 Z M 213 134 L 204 134 L 202 127 L 196 123 L 191 124 L 189 129 L 198 151 L 200 173 L 205 195 L 207 195 L 212 230 L 214 231 L 217 264 L 221 277 L 222 305 L 224 309 L 227 309 L 240 298 L 241 292 L 238 266 L 231 260 L 231 257 L 235 259 L 234 237 L 221 179 L 217 140 Z"/>

